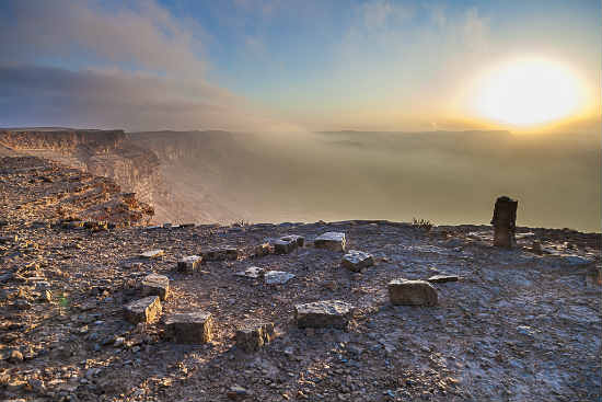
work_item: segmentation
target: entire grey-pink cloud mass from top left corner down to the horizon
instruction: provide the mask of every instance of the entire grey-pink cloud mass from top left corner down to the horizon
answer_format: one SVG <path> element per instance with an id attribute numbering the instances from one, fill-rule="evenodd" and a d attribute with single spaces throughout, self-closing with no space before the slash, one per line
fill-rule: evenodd
<path id="1" fill-rule="evenodd" d="M 4 126 L 286 127 L 207 82 L 197 30 L 152 1 L 107 11 L 93 0 L 25 0 L 0 23 L 0 54 L 10 60 L 0 62 Z"/>

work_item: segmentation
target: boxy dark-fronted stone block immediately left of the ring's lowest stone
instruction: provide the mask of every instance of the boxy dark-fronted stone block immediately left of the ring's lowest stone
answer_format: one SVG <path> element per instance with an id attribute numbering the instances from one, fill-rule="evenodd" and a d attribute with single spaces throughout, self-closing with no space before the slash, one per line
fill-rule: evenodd
<path id="1" fill-rule="evenodd" d="M 210 312 L 197 311 L 171 314 L 165 320 L 167 335 L 181 344 L 211 342 L 213 317 Z"/>

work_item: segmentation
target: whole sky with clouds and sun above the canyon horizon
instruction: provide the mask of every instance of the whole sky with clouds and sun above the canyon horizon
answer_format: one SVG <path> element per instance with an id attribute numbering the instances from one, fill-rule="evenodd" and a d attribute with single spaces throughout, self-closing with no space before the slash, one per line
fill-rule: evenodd
<path id="1" fill-rule="evenodd" d="M 600 131 L 598 0 L 8 0 L 0 127 Z"/>

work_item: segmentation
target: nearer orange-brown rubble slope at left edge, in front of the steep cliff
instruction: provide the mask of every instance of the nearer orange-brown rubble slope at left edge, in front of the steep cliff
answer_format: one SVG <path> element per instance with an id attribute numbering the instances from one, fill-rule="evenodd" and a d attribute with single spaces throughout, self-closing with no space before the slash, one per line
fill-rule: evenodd
<path id="1" fill-rule="evenodd" d="M 154 214 L 108 177 L 36 157 L 2 158 L 0 166 L 0 216 L 7 225 L 136 226 Z"/>

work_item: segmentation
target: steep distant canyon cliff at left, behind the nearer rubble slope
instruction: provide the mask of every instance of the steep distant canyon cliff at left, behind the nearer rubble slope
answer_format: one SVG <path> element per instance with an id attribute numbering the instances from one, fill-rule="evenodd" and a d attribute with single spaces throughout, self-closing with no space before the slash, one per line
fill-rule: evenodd
<path id="1" fill-rule="evenodd" d="M 169 197 L 157 154 L 132 143 L 123 130 L 0 130 L 0 147 L 10 156 L 47 158 L 111 177 L 150 205 Z"/>

